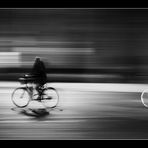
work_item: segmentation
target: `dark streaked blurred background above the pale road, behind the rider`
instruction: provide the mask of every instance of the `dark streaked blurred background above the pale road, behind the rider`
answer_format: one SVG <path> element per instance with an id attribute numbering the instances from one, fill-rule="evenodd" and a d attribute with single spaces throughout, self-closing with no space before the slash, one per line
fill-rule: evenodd
<path id="1" fill-rule="evenodd" d="M 0 80 L 148 82 L 148 9 L 0 9 Z"/>

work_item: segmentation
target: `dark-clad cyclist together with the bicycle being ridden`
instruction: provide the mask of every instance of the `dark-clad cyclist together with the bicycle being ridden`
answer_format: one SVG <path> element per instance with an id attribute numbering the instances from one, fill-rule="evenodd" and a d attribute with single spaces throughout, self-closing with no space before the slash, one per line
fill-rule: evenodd
<path id="1" fill-rule="evenodd" d="M 59 101 L 57 90 L 44 85 L 47 83 L 46 64 L 48 64 L 46 59 L 43 62 L 39 57 L 36 57 L 30 73 L 18 79 L 25 86 L 18 87 L 13 91 L 11 99 L 14 105 L 23 108 L 30 101 L 39 101 L 43 103 L 44 109 L 47 109 L 47 111 L 49 108 L 57 106 Z M 47 67 L 49 67 L 49 64 Z"/>

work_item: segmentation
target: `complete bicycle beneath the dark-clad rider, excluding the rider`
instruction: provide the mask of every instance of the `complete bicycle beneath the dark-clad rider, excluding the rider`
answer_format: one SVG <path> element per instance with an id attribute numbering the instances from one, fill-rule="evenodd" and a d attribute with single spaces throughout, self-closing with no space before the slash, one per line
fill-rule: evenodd
<path id="1" fill-rule="evenodd" d="M 55 108 L 59 103 L 59 94 L 57 90 L 53 87 L 47 87 L 45 83 L 42 87 L 35 91 L 32 84 L 32 78 L 25 75 L 22 78 L 19 78 L 21 84 L 25 84 L 23 87 L 16 88 L 12 95 L 11 99 L 14 105 L 20 108 L 24 108 L 29 105 L 30 101 L 40 101 L 46 108 Z"/>

